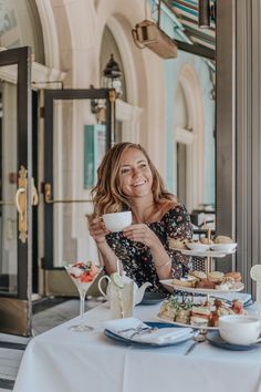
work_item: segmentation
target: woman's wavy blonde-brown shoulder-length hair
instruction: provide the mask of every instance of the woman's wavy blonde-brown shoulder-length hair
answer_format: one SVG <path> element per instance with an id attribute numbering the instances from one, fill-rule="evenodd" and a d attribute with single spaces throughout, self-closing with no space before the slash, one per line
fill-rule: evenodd
<path id="1" fill-rule="evenodd" d="M 132 209 L 132 199 L 124 195 L 121 189 L 119 176 L 122 156 L 128 148 L 139 149 L 148 162 L 153 173 L 154 202 L 158 205 L 177 202 L 176 197 L 165 189 L 164 182 L 144 147 L 139 144 L 124 142 L 116 144 L 106 152 L 97 169 L 97 183 L 92 189 L 94 216 Z"/>

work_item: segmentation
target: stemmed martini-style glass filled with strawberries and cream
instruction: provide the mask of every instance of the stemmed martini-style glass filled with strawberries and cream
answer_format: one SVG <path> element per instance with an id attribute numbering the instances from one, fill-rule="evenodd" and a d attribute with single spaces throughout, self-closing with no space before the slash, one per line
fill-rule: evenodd
<path id="1" fill-rule="evenodd" d="M 84 305 L 86 292 L 93 282 L 96 280 L 98 274 L 102 270 L 102 267 L 95 266 L 92 261 L 83 262 L 77 261 L 70 264 L 64 267 L 76 286 L 80 293 L 80 323 L 76 326 L 71 326 L 69 329 L 75 332 L 86 332 L 93 330 L 93 327 L 90 327 L 84 323 Z"/>

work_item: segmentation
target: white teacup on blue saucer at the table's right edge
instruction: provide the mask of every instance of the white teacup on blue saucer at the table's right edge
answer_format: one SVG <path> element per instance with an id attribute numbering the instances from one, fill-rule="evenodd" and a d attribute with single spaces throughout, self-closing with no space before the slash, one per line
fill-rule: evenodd
<path id="1" fill-rule="evenodd" d="M 222 316 L 219 319 L 219 333 L 231 344 L 248 345 L 258 341 L 260 326 L 260 319 L 254 316 Z"/>

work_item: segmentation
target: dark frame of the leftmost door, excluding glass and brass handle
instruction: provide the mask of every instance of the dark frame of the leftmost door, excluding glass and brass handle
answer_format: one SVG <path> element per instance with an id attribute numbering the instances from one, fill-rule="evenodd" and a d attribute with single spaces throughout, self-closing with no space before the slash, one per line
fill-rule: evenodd
<path id="1" fill-rule="evenodd" d="M 19 239 L 18 230 L 18 292 L 0 292 L 0 332 L 31 334 L 32 316 L 32 124 L 31 124 L 31 48 L 22 47 L 0 52 L 0 66 L 18 65 L 17 76 L 17 134 L 18 167 L 27 169 L 27 238 Z M 19 214 L 18 214 L 19 221 Z"/>

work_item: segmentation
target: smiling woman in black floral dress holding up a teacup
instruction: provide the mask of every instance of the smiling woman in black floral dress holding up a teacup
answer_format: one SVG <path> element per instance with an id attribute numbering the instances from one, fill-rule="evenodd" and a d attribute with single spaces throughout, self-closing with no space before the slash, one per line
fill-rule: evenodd
<path id="1" fill-rule="evenodd" d="M 97 244 L 107 274 L 116 260 L 138 286 L 152 282 L 152 291 L 165 291 L 160 279 L 184 276 L 189 258 L 169 248 L 169 238 L 191 239 L 186 208 L 164 188 L 163 179 L 138 144 L 111 148 L 97 171 L 93 188 L 94 218 L 90 234 Z M 133 224 L 121 233 L 106 230 L 103 214 L 132 210 Z"/>

